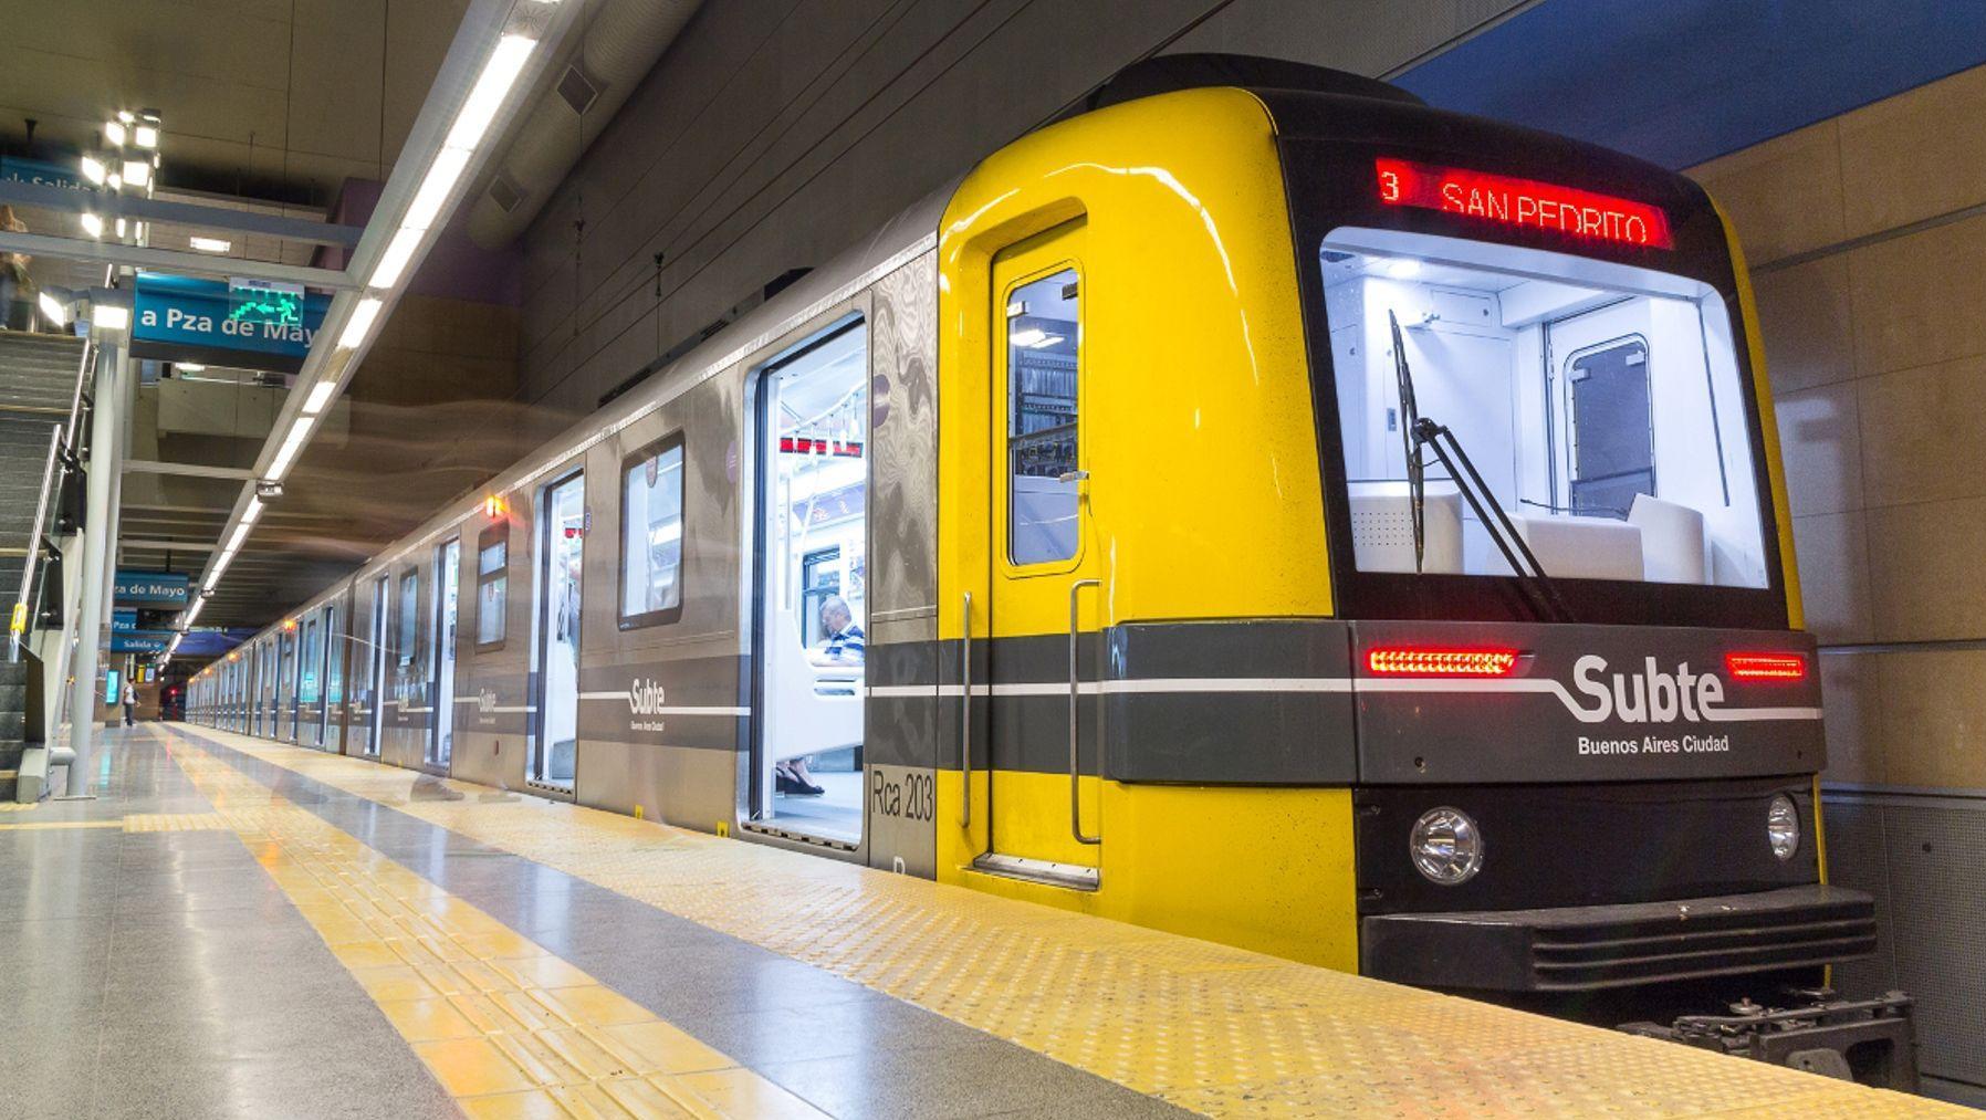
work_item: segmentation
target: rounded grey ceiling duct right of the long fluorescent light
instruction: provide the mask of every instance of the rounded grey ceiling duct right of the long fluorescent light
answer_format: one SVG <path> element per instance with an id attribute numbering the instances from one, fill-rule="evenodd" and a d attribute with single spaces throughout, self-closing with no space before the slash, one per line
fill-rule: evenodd
<path id="1" fill-rule="evenodd" d="M 542 85 L 469 210 L 469 236 L 502 248 L 538 216 L 544 201 L 594 143 L 600 129 L 655 68 L 699 0 L 604 0 L 578 32 L 580 46 Z M 504 205 L 508 203 L 508 205 Z"/>

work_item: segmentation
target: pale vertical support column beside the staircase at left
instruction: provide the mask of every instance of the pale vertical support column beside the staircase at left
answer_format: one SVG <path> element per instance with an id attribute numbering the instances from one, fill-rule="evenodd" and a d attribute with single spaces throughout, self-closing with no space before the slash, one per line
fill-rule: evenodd
<path id="1" fill-rule="evenodd" d="M 109 631 L 111 586 L 117 580 L 117 481 L 123 473 L 123 419 L 129 391 L 125 385 L 125 342 L 97 340 L 97 369 L 93 377 L 95 407 L 89 413 L 89 475 L 83 522 L 83 572 L 77 580 L 81 604 L 75 612 L 75 657 L 70 687 L 70 763 L 66 796 L 89 796 L 89 774 L 95 769 L 97 741 L 97 667 Z"/>

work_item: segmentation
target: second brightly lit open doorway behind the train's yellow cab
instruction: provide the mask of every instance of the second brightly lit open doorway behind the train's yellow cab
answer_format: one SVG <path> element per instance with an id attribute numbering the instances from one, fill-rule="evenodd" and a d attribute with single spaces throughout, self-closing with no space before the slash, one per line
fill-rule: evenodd
<path id="1" fill-rule="evenodd" d="M 538 578 L 538 737 L 528 776 L 570 790 L 580 749 L 580 578 L 586 562 L 586 475 L 544 489 Z"/>

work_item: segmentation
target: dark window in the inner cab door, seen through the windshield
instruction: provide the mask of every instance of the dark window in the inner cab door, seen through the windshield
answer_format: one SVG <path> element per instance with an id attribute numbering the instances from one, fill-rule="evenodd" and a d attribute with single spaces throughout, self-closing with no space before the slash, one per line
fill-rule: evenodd
<path id="1" fill-rule="evenodd" d="M 1648 342 L 1617 338 L 1565 359 L 1571 403 L 1571 498 L 1581 516 L 1627 520 L 1636 494 L 1654 496 L 1654 411 Z"/>

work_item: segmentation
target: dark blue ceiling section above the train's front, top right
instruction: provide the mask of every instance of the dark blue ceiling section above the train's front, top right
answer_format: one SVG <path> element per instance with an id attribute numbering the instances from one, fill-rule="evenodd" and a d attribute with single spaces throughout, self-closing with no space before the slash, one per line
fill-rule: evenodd
<path id="1" fill-rule="evenodd" d="M 1982 0 L 1543 0 L 1394 81 L 1692 167 L 1982 62 Z"/>

